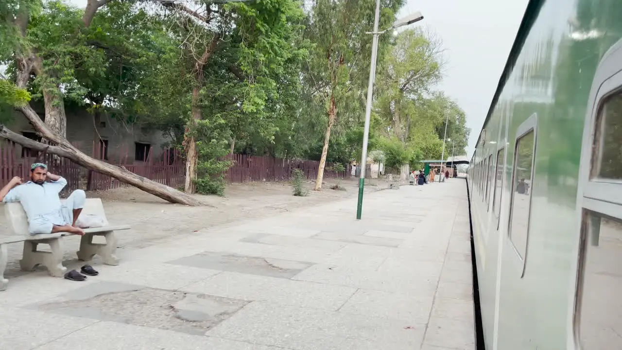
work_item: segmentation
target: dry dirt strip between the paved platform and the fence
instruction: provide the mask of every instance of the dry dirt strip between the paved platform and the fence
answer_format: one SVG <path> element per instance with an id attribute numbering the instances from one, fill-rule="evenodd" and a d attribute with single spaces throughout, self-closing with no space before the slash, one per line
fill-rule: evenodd
<path id="1" fill-rule="evenodd" d="M 227 187 L 225 197 L 197 195 L 200 201 L 207 204 L 203 207 L 170 204 L 134 187 L 87 192 L 86 196 L 102 199 L 106 217 L 111 224 L 131 225 L 131 230 L 119 233 L 119 248 L 132 249 L 148 247 L 180 235 L 192 235 L 208 227 L 242 224 L 246 220 L 339 201 L 358 194 L 358 179 L 340 180 L 345 191 L 330 189 L 336 183 L 334 179 L 327 179 L 322 191 L 311 191 L 313 182 L 306 182 L 305 186 L 310 190 L 307 197 L 292 196 L 292 187 L 286 182 L 232 184 Z M 386 187 L 387 182 L 379 181 L 377 184 L 372 182 L 366 185 L 365 189 L 366 192 L 372 192 Z M 9 234 L 3 213 L 0 213 L 0 234 Z M 65 259 L 75 258 L 80 240 L 72 238 L 65 239 Z M 23 274 L 19 271 L 21 255 L 22 244 L 9 245 L 6 277 Z"/>

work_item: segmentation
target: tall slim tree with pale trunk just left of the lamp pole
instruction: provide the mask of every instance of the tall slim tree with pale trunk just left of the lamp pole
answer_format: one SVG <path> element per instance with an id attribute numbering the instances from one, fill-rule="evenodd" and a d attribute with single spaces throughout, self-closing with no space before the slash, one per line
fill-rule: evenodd
<path id="1" fill-rule="evenodd" d="M 403 1 L 383 1 L 380 25 L 388 27 Z M 358 97 L 364 86 L 364 73 L 369 72 L 371 35 L 375 1 L 317 0 L 313 4 L 307 25 L 307 38 L 312 42 L 312 54 L 305 71 L 305 83 L 312 87 L 312 96 L 323 106 L 325 128 L 322 155 L 315 181 L 315 191 L 322 189 L 322 179 L 328 146 L 337 115 L 346 102 Z M 388 39 L 381 37 L 380 52 Z"/>

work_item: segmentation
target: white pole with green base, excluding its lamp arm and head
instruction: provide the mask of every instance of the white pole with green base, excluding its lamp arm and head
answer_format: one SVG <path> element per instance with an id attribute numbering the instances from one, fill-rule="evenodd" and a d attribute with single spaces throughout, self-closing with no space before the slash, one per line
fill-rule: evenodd
<path id="1" fill-rule="evenodd" d="M 369 118 L 371 118 L 371 102 L 374 94 L 374 79 L 376 77 L 376 55 L 378 55 L 378 21 L 380 19 L 380 0 L 376 0 L 376 14 L 374 16 L 374 32 L 371 40 L 371 62 L 369 64 L 369 83 L 367 86 L 367 103 L 365 105 L 365 126 L 363 128 L 363 152 L 361 153 L 361 177 L 358 179 L 358 203 L 356 204 L 356 219 L 361 219 L 363 210 L 363 189 L 365 186 L 365 168 L 367 167 L 367 143 L 369 141 Z"/>

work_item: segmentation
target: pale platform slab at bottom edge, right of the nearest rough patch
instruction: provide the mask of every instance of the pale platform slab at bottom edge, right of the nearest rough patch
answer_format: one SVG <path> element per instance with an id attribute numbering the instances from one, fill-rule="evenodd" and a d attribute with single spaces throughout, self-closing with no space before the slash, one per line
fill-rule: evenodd
<path id="1" fill-rule="evenodd" d="M 422 324 L 255 302 L 208 331 L 294 350 L 419 349 Z"/>

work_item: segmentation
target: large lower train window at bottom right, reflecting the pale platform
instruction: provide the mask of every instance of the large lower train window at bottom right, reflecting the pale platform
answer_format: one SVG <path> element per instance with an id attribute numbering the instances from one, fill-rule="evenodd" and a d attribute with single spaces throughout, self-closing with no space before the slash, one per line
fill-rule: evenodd
<path id="1" fill-rule="evenodd" d="M 622 222 L 583 213 L 575 305 L 575 337 L 582 349 L 622 349 Z"/>

